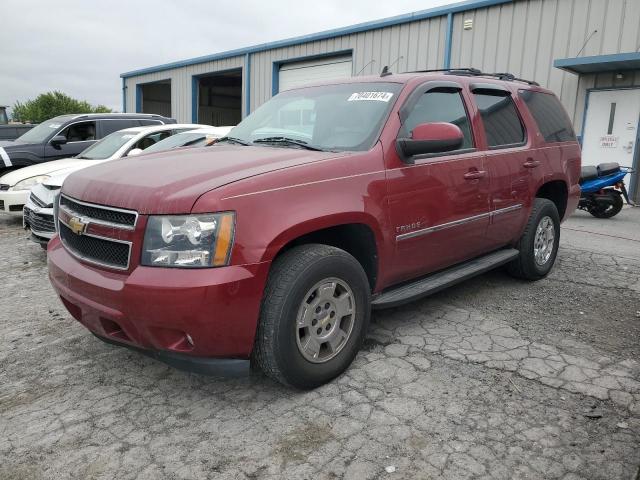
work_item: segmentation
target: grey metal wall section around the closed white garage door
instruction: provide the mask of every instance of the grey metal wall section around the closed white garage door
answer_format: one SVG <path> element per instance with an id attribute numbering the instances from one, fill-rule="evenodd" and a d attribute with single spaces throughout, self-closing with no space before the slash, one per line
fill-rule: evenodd
<path id="1" fill-rule="evenodd" d="M 307 42 L 251 54 L 251 110 L 271 98 L 274 62 L 284 63 L 304 57 L 353 52 L 353 75 L 379 73 L 385 65 L 400 60 L 394 72 L 441 68 L 447 17 L 440 16 L 402 25 L 378 28 L 326 40 Z M 375 63 L 370 63 L 375 60 Z M 366 68 L 365 68 L 366 66 Z"/>

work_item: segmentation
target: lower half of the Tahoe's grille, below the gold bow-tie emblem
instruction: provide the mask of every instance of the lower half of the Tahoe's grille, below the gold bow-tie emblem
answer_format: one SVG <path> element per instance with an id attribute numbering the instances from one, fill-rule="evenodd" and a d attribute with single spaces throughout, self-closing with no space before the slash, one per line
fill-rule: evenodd
<path id="1" fill-rule="evenodd" d="M 64 223 L 60 222 L 60 240 L 71 254 L 82 260 L 105 267 L 126 270 L 129 268 L 131 244 L 103 237 L 82 234 L 76 235 Z"/>

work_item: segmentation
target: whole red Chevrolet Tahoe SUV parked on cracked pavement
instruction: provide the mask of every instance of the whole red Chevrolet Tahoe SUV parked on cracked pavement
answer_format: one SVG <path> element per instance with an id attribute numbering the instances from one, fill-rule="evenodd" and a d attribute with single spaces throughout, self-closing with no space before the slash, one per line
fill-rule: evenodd
<path id="1" fill-rule="evenodd" d="M 579 198 L 557 98 L 475 70 L 283 92 L 210 147 L 72 174 L 51 282 L 99 338 L 179 368 L 343 372 L 372 308 L 501 265 L 536 280 Z"/>

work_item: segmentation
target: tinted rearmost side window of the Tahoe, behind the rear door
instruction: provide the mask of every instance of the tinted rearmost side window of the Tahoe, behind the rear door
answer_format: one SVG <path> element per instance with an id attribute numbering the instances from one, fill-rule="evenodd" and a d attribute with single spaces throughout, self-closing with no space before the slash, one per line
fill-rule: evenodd
<path id="1" fill-rule="evenodd" d="M 560 101 L 550 93 L 520 90 L 545 142 L 569 142 L 576 139 L 569 118 Z"/>

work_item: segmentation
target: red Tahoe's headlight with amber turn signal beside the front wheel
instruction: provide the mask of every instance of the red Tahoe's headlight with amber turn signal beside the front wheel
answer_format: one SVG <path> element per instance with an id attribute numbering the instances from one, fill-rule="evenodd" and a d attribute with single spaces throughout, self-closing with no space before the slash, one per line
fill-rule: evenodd
<path id="1" fill-rule="evenodd" d="M 144 234 L 141 264 L 204 268 L 229 264 L 235 233 L 232 212 L 153 215 Z"/>

